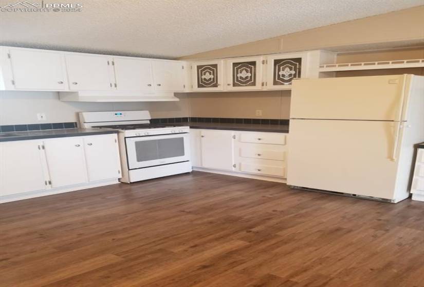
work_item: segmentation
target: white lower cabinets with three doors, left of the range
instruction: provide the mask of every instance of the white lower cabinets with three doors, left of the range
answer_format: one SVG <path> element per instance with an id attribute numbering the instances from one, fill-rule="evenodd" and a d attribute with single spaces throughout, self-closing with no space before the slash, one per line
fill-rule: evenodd
<path id="1" fill-rule="evenodd" d="M 0 202 L 110 184 L 120 177 L 117 134 L 0 142 Z"/>

